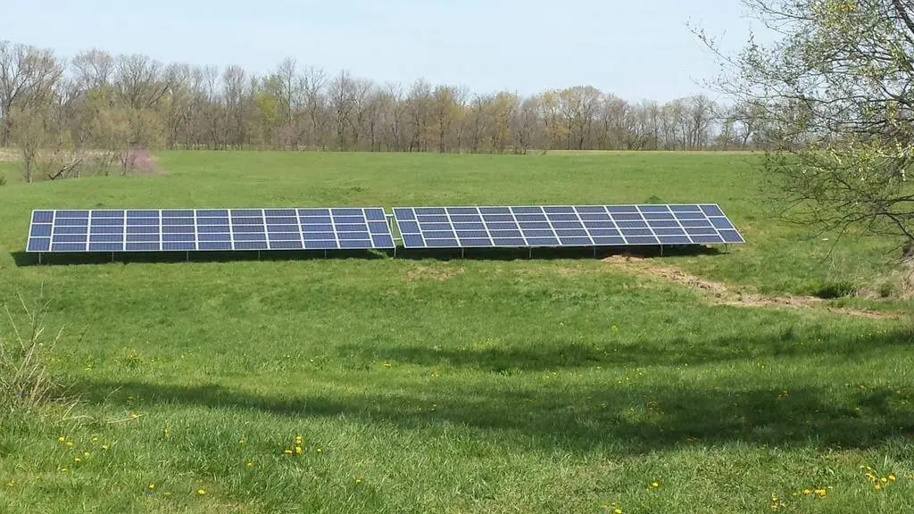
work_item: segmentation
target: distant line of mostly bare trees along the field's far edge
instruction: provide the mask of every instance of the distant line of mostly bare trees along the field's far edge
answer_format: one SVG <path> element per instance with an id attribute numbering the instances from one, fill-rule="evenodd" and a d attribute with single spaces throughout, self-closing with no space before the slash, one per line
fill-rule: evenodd
<path id="1" fill-rule="evenodd" d="M 705 95 L 628 102 L 590 86 L 523 97 L 426 80 L 377 83 L 296 59 L 255 75 L 90 49 L 62 59 L 0 41 L 0 146 L 527 153 L 759 145 L 750 109 Z"/>

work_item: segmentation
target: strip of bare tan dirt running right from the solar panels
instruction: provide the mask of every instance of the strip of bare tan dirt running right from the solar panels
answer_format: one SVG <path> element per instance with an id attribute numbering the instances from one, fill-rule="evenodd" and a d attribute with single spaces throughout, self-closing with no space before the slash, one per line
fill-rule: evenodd
<path id="1" fill-rule="evenodd" d="M 685 273 L 684 271 L 676 268 L 668 266 L 655 266 L 645 262 L 642 257 L 634 255 L 612 255 L 611 257 L 603 259 L 603 262 L 611 263 L 612 265 L 620 267 L 630 273 L 660 278 L 674 284 L 681 284 L 692 289 L 698 289 L 705 292 L 708 302 L 712 305 L 785 308 L 810 308 L 813 306 L 821 306 L 823 310 L 845 316 L 858 316 L 868 318 L 893 317 L 889 313 L 866 311 L 849 307 L 822 306 L 824 300 L 817 296 L 767 296 L 763 294 L 747 294 L 741 291 L 733 291 L 727 286 L 727 284 L 701 279 L 695 275 Z"/>

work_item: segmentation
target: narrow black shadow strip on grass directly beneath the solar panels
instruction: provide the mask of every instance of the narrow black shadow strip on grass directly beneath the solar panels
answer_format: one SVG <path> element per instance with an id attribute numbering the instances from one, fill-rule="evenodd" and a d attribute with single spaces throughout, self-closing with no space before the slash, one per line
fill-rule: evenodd
<path id="1" fill-rule="evenodd" d="M 675 255 L 717 255 L 723 253 L 716 247 L 705 246 L 653 246 L 613 248 L 468 248 L 460 249 L 404 249 L 392 250 L 320 250 L 262 252 L 74 252 L 37 253 L 12 252 L 17 266 L 105 264 L 109 262 L 237 262 L 237 261 L 309 261 L 320 259 L 388 259 L 395 257 L 410 261 L 437 260 L 452 261 L 471 259 L 476 261 L 556 260 L 593 259 L 610 255 L 626 254 L 643 258 Z"/>

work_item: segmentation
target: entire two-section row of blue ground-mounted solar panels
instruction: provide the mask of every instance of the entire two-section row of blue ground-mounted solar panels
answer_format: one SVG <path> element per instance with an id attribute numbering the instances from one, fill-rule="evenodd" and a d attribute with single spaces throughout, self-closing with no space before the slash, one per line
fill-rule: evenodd
<path id="1" fill-rule="evenodd" d="M 399 232 L 394 237 L 393 228 Z M 625 247 L 745 242 L 717 204 L 33 210 L 27 252 Z"/>

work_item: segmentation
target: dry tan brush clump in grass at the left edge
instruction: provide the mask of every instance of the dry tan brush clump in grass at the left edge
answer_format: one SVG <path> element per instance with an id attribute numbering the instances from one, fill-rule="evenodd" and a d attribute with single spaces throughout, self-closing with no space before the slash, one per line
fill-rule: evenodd
<path id="1" fill-rule="evenodd" d="M 30 309 L 21 297 L 19 301 L 27 319 L 27 327 L 22 330 L 4 305 L 9 330 L 8 336 L 0 334 L 0 406 L 32 410 L 50 401 L 58 387 L 48 374 L 45 359 L 62 330 L 45 343 L 44 315 L 48 303 Z"/>

